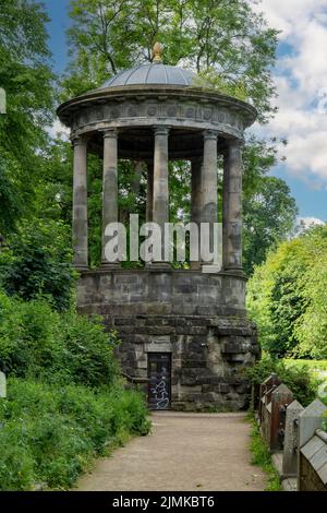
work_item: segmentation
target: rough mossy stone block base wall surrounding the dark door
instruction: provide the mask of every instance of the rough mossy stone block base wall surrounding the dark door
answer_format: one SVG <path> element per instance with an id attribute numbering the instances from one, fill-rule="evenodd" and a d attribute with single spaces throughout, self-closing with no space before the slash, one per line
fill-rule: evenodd
<path id="1" fill-rule="evenodd" d="M 249 401 L 241 369 L 257 356 L 254 326 L 203 317 L 105 317 L 122 344 L 119 358 L 130 375 L 147 378 L 147 354 L 172 357 L 172 408 L 241 409 Z M 146 390 L 145 390 L 146 391 Z"/>

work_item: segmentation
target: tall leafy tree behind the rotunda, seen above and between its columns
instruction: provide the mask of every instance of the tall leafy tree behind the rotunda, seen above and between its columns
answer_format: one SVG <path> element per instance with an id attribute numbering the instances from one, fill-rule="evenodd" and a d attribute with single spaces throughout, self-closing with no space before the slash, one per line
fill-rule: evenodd
<path id="1" fill-rule="evenodd" d="M 62 83 L 62 96 L 66 98 L 82 94 L 98 87 L 121 69 L 150 61 L 153 45 L 160 40 L 165 46 L 166 63 L 182 63 L 194 69 L 201 80 L 204 79 L 195 85 L 206 84 L 222 93 L 252 100 L 259 111 L 259 119 L 265 121 L 274 114 L 270 99 L 275 88 L 270 67 L 275 60 L 277 32 L 267 27 L 263 15 L 255 13 L 251 3 L 243 0 L 72 0 L 72 27 L 69 31 L 71 62 Z M 287 186 L 279 181 L 279 188 L 276 182 L 274 189 L 271 181 L 262 179 L 276 163 L 276 140 L 268 143 L 252 136 L 247 141 L 244 152 L 247 272 L 253 269 L 252 258 L 255 256 L 254 263 L 262 262 L 267 248 L 291 228 L 292 200 L 288 198 Z M 221 174 L 220 168 L 219 196 Z M 135 175 L 135 166 L 126 163 L 120 165 L 120 210 L 123 218 L 131 205 L 133 212 L 136 207 L 141 217 L 145 215 L 146 175 L 138 175 L 137 194 L 130 192 L 132 176 Z M 100 253 L 100 229 L 98 224 L 95 225 L 100 219 L 100 179 L 99 168 L 89 191 L 93 262 L 97 262 L 95 255 Z M 186 163 L 170 166 L 171 220 L 190 218 L 190 182 Z M 261 202 L 258 198 L 263 193 L 264 201 Z M 269 217 L 269 232 L 258 253 L 256 246 L 263 228 L 261 232 L 253 232 L 252 222 L 262 220 L 259 210 L 263 211 L 267 203 L 270 211 L 274 208 L 274 216 Z M 219 217 L 221 219 L 221 212 Z M 278 224 L 277 217 L 281 219 L 279 229 L 275 226 Z"/>

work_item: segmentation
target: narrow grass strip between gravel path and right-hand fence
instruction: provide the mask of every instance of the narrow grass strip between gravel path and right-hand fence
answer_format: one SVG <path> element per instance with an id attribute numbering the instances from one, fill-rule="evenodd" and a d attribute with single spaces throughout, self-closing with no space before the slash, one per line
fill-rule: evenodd
<path id="1" fill-rule="evenodd" d="M 259 428 L 253 415 L 249 416 L 247 420 L 252 423 L 251 430 L 251 445 L 252 453 L 251 463 L 262 467 L 268 476 L 268 486 L 265 491 L 280 491 L 280 480 L 276 468 L 272 465 L 271 455 L 265 442 L 262 439 Z"/>

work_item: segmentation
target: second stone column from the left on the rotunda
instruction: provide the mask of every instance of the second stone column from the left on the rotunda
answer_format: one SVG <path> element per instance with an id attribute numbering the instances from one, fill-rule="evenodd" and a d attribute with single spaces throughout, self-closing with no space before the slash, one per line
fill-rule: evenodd
<path id="1" fill-rule="evenodd" d="M 118 222 L 118 132 L 116 129 L 104 132 L 104 181 L 102 181 L 102 266 L 117 266 L 106 260 L 105 247 L 108 237 L 106 226 Z"/>

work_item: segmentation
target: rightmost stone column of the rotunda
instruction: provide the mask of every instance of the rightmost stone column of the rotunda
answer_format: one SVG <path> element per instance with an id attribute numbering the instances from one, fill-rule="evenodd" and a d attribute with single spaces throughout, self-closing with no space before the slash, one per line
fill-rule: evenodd
<path id="1" fill-rule="evenodd" d="M 243 273 L 242 269 L 242 145 L 228 142 L 223 162 L 222 266 Z"/>

